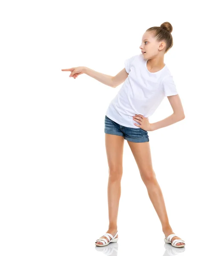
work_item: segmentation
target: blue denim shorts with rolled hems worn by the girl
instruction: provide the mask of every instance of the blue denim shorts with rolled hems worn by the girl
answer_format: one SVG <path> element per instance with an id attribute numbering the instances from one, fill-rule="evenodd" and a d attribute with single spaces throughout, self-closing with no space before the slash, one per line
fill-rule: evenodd
<path id="1" fill-rule="evenodd" d="M 119 125 L 113 120 L 105 116 L 105 128 L 104 132 L 106 134 L 113 134 L 123 136 L 125 140 L 132 142 L 148 142 L 149 136 L 148 132 L 142 128 L 130 128 L 123 125 Z"/>

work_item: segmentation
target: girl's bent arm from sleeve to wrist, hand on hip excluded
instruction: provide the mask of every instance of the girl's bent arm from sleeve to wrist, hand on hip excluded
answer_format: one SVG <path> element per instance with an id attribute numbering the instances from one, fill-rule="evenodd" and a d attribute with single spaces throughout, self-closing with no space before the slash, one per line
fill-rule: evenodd
<path id="1" fill-rule="evenodd" d="M 172 95 L 172 96 L 168 96 L 167 98 L 172 106 L 173 113 L 172 115 L 168 116 L 167 118 L 161 121 L 151 123 L 151 131 L 155 131 L 157 129 L 166 127 L 168 125 L 172 125 L 175 122 L 181 121 L 185 118 L 184 109 L 181 104 L 181 99 L 179 95 L 178 94 Z"/>

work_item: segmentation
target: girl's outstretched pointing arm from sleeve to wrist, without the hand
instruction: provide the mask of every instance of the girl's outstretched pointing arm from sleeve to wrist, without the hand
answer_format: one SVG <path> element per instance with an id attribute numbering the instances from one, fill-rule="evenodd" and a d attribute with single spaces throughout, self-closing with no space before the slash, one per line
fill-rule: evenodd
<path id="1" fill-rule="evenodd" d="M 83 67 L 83 73 L 91 76 L 92 78 L 98 80 L 99 82 L 106 84 L 110 87 L 117 87 L 119 84 L 121 84 L 128 76 L 128 73 L 126 73 L 126 70 L 121 70 L 116 76 L 109 76 L 103 73 L 99 73 L 95 70 L 92 70 L 88 67 Z"/>

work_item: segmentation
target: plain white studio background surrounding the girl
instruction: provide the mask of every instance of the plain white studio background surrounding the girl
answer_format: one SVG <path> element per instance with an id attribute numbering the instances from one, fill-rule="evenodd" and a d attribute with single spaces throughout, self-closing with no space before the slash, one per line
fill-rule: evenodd
<path id="1" fill-rule="evenodd" d="M 1 255 L 203 253 L 202 17 L 199 1 L 0 5 Z M 170 225 L 186 247 L 164 244 L 125 141 L 118 243 L 95 248 L 109 224 L 104 117 L 122 84 L 112 88 L 85 74 L 69 78 L 61 69 L 86 66 L 115 76 L 141 52 L 144 32 L 165 21 L 172 24 L 174 44 L 164 63 L 185 119 L 148 134 Z M 171 114 L 166 97 L 149 122 Z"/>

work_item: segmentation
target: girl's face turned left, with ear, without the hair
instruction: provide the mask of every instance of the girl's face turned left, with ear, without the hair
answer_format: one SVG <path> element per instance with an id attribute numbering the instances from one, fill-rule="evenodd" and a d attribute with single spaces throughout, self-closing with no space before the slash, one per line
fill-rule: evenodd
<path id="1" fill-rule="evenodd" d="M 151 59 L 158 54 L 164 54 L 164 50 L 162 51 L 162 49 L 164 49 L 165 45 L 164 41 L 158 42 L 156 40 L 153 32 L 145 32 L 140 46 L 141 52 L 145 52 L 142 54 L 143 58 Z"/>

